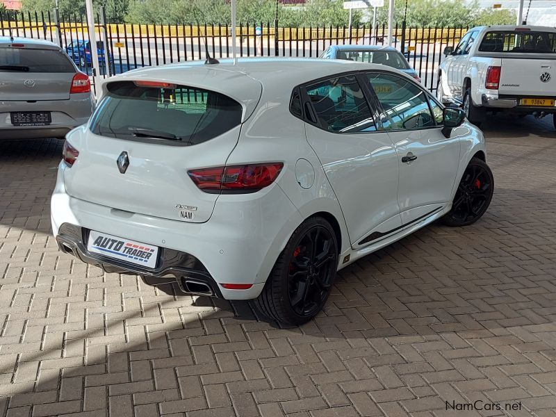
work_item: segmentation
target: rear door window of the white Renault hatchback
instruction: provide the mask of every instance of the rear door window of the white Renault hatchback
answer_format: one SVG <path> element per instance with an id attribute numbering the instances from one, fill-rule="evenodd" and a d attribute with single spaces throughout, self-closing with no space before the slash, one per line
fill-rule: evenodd
<path id="1" fill-rule="evenodd" d="M 363 90 L 354 75 L 306 87 L 321 129 L 336 133 L 376 131 Z"/>

